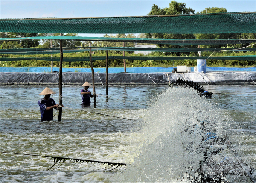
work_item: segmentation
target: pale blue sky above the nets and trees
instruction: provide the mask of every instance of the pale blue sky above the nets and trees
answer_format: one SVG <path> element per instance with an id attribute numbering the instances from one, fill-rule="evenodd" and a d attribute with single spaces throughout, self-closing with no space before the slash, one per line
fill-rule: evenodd
<path id="1" fill-rule="evenodd" d="M 228 12 L 256 11 L 256 0 L 176 0 L 197 11 L 223 7 Z M 0 18 L 74 18 L 139 16 L 153 4 L 169 7 L 171 0 L 0 0 Z M 79 34 L 102 37 L 103 34 Z"/>

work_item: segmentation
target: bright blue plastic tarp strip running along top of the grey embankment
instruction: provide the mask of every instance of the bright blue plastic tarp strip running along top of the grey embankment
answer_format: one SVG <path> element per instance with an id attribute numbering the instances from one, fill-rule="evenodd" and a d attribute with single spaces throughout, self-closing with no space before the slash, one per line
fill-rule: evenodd
<path id="1" fill-rule="evenodd" d="M 174 67 L 176 68 L 176 67 Z M 53 67 L 53 71 L 59 72 L 59 67 Z M 171 73 L 172 67 L 126 67 L 128 73 Z M 191 67 L 194 71 L 194 67 Z M 256 72 L 256 67 L 207 67 L 207 72 L 214 71 L 248 71 Z M 31 73 L 44 73 L 51 72 L 50 67 L 0 67 L 0 72 L 31 72 Z M 91 68 L 62 68 L 62 72 L 84 72 L 90 73 Z M 94 72 L 105 73 L 106 68 L 94 68 Z M 123 67 L 110 67 L 109 73 L 123 73 Z"/>

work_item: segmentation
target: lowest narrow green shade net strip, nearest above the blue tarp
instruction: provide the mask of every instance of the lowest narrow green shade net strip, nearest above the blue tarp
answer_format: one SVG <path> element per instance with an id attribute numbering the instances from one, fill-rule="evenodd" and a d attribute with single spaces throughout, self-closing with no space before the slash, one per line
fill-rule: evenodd
<path id="1" fill-rule="evenodd" d="M 93 61 L 105 60 L 106 57 L 92 57 Z M 251 56 L 216 56 L 216 57 L 129 57 L 129 56 L 109 56 L 108 60 L 126 59 L 126 60 L 256 60 L 256 55 Z M 19 61 L 19 60 L 45 60 L 45 61 L 59 61 L 59 57 L 38 57 L 38 58 L 0 58 L 0 61 Z M 81 62 L 90 61 L 90 57 L 64 57 L 64 62 Z"/>

